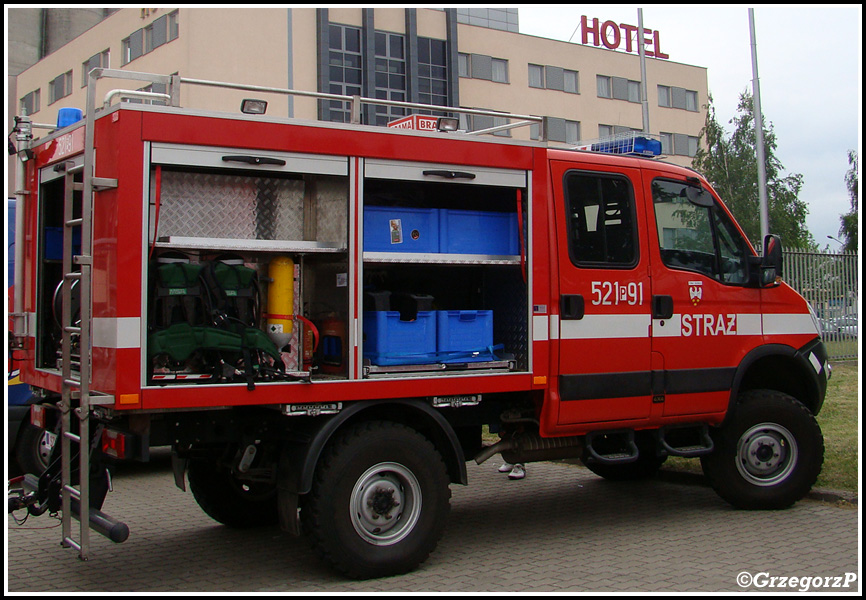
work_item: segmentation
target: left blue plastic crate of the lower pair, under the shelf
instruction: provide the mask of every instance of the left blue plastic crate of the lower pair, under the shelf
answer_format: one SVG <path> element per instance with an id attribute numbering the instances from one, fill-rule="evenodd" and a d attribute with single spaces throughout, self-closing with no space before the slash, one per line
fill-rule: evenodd
<path id="1" fill-rule="evenodd" d="M 364 358 L 374 365 L 412 365 L 436 359 L 436 313 L 401 321 L 396 310 L 364 311 Z"/>

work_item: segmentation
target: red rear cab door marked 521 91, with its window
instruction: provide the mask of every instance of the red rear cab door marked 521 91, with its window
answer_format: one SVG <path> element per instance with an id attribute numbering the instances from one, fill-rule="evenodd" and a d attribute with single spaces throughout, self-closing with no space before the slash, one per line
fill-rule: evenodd
<path id="1" fill-rule="evenodd" d="M 644 419 L 652 396 L 640 171 L 566 161 L 552 161 L 551 171 L 560 270 L 558 425 Z"/>

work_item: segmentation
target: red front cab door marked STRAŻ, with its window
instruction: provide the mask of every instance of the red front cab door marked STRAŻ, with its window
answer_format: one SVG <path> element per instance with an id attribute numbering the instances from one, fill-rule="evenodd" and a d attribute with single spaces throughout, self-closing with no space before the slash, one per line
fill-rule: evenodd
<path id="1" fill-rule="evenodd" d="M 695 177 L 643 170 L 652 198 L 652 349 L 664 364 L 664 416 L 727 409 L 736 368 L 760 342 L 760 290 L 749 243 Z"/>

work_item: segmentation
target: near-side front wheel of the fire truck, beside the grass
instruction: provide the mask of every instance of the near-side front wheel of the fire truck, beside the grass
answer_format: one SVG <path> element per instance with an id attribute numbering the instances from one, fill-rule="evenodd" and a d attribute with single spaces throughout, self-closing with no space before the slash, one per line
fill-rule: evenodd
<path id="1" fill-rule="evenodd" d="M 715 432 L 716 449 L 701 457 L 713 489 L 737 508 L 787 508 L 821 472 L 824 437 L 809 410 L 780 392 L 745 392 Z"/>

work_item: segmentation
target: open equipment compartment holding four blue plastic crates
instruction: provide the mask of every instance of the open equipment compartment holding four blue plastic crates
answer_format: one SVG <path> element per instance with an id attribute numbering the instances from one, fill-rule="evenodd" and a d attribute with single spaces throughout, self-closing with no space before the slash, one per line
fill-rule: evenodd
<path id="1" fill-rule="evenodd" d="M 525 172 L 364 169 L 364 376 L 527 370 Z"/>

